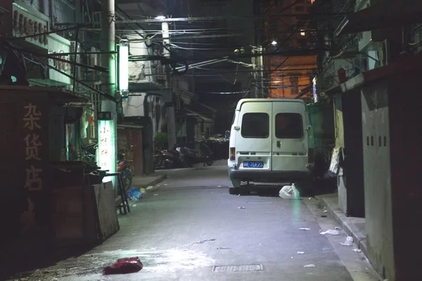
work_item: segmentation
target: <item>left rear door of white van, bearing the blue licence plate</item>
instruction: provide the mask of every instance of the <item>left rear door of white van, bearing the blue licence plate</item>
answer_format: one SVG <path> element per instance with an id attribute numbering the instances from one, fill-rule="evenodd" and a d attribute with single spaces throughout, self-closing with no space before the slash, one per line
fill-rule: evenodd
<path id="1" fill-rule="evenodd" d="M 241 105 L 236 133 L 236 163 L 239 170 L 271 171 L 271 102 Z"/>

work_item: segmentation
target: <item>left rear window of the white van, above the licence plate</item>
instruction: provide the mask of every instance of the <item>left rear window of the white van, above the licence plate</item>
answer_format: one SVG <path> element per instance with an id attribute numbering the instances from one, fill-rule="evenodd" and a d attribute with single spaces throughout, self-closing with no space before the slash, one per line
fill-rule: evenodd
<path id="1" fill-rule="evenodd" d="M 268 138 L 269 115 L 267 113 L 245 113 L 242 118 L 243 138 Z"/>

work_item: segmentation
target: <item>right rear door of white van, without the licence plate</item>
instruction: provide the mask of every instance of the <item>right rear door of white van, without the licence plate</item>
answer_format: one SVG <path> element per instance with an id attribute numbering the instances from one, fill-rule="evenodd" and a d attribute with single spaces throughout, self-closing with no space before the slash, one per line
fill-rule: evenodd
<path id="1" fill-rule="evenodd" d="M 272 170 L 307 171 L 308 131 L 305 104 L 272 103 Z"/>

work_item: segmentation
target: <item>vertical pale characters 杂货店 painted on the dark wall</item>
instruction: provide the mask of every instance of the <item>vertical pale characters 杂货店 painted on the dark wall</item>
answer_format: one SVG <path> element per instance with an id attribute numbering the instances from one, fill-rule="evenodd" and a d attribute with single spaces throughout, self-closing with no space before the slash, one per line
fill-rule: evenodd
<path id="1" fill-rule="evenodd" d="M 23 129 L 25 129 L 26 136 L 23 139 L 25 143 L 25 160 L 31 161 L 30 166 L 26 167 L 25 175 L 25 189 L 28 191 L 42 190 L 42 169 L 37 165 L 41 161 L 39 155 L 39 148 L 42 143 L 39 137 L 39 130 L 41 129 L 41 111 L 37 110 L 37 105 L 28 103 L 24 106 L 25 115 L 23 117 Z"/>

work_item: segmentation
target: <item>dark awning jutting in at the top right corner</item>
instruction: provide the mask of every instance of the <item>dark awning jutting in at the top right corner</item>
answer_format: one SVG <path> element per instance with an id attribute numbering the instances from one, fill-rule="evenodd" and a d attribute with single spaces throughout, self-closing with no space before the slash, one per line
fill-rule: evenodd
<path id="1" fill-rule="evenodd" d="M 334 32 L 337 37 L 376 30 L 381 27 L 393 27 L 422 22 L 422 1 L 390 0 L 375 4 L 355 13 L 346 15 Z"/>

